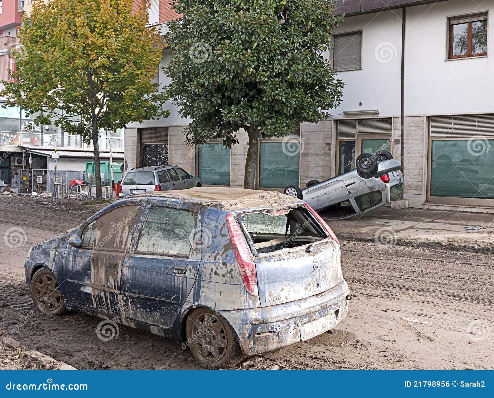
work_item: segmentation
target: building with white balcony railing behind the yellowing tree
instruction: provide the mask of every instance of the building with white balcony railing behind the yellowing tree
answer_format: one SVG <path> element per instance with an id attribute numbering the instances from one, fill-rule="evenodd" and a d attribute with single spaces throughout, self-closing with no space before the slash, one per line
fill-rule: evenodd
<path id="1" fill-rule="evenodd" d="M 9 70 L 15 70 L 11 52 L 20 46 L 16 36 L 21 13 L 29 15 L 31 7 L 32 0 L 0 0 L 0 80 L 11 80 Z M 86 161 L 94 159 L 92 144 L 85 144 L 81 136 L 53 125 L 34 125 L 36 115 L 29 115 L 19 107 L 3 108 L 2 103 L 4 100 L 0 98 L 0 180 L 19 187 L 19 170 L 45 170 L 47 174 L 54 169 L 51 154 L 55 149 L 59 171 L 82 172 Z M 99 148 L 102 161 L 110 159 L 111 148 L 113 159 L 122 162 L 124 129 L 101 130 Z"/>

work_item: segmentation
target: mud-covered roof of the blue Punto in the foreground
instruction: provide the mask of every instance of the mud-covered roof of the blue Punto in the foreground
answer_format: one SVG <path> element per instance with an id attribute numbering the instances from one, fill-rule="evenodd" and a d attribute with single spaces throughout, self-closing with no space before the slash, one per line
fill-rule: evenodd
<path id="1" fill-rule="evenodd" d="M 132 194 L 127 198 L 138 197 L 182 199 L 187 202 L 227 210 L 277 208 L 292 203 L 301 203 L 300 199 L 291 198 L 280 192 L 221 187 L 196 187 L 179 191 L 145 192 Z"/>

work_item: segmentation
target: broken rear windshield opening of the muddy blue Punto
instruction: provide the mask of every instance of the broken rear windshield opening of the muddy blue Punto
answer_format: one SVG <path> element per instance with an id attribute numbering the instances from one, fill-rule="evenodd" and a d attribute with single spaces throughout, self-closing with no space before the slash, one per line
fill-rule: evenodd
<path id="1" fill-rule="evenodd" d="M 239 221 L 258 253 L 302 246 L 325 239 L 326 233 L 305 207 L 243 213 Z"/>

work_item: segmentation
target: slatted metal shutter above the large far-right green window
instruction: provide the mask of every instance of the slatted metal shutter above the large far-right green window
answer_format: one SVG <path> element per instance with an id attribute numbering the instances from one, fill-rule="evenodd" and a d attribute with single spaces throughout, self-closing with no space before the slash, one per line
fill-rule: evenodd
<path id="1" fill-rule="evenodd" d="M 432 116 L 431 138 L 494 137 L 494 115 Z"/>

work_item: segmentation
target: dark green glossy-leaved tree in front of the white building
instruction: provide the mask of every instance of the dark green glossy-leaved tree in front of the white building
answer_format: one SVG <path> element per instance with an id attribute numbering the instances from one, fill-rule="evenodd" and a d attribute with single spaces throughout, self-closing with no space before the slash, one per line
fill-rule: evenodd
<path id="1" fill-rule="evenodd" d="M 175 55 L 168 93 L 192 145 L 248 135 L 245 188 L 254 189 L 257 141 L 284 137 L 302 121 L 329 119 L 343 83 L 324 54 L 340 21 L 334 0 L 175 0 L 168 24 Z"/>

